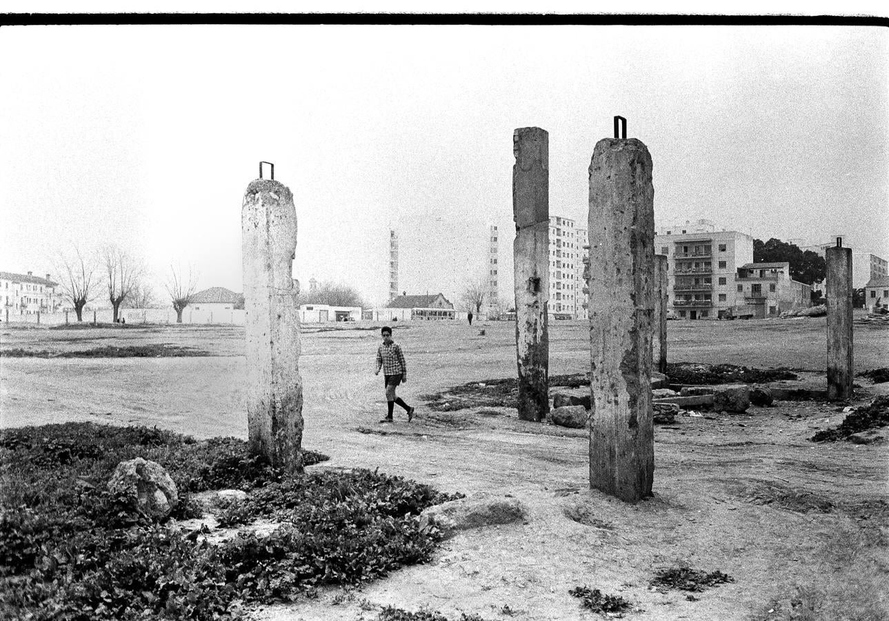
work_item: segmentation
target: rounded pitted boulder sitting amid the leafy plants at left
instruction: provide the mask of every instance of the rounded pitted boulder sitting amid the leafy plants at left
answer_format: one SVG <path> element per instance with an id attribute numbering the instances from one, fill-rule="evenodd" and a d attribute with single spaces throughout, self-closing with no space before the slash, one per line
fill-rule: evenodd
<path id="1" fill-rule="evenodd" d="M 154 520 L 163 520 L 179 504 L 179 490 L 164 466 L 141 457 L 117 464 L 108 491 L 135 497 L 139 508 Z"/>

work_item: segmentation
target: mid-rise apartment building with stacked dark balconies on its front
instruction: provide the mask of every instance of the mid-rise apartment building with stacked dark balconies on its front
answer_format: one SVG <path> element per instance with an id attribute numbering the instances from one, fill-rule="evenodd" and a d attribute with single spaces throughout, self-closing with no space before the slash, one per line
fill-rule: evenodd
<path id="1" fill-rule="evenodd" d="M 659 227 L 654 252 L 666 254 L 668 308 L 678 319 L 720 319 L 743 305 L 735 277 L 753 262 L 753 238 L 736 230 L 716 230 L 709 220 Z"/>

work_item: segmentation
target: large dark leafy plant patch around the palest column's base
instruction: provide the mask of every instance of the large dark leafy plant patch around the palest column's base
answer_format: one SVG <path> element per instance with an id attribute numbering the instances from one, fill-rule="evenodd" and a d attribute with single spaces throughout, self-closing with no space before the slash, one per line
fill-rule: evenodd
<path id="1" fill-rule="evenodd" d="M 214 545 L 205 527 L 154 523 L 106 487 L 116 464 L 136 456 L 176 482 L 174 518 L 200 515 L 190 493 L 241 488 L 250 496 L 223 508 L 228 525 L 281 526 Z M 326 458 L 304 453 L 306 464 Z M 366 470 L 287 477 L 233 438 L 93 423 L 4 430 L 0 609 L 35 620 L 237 618 L 244 601 L 292 601 L 427 561 L 437 531 L 417 516 L 453 497 Z"/>

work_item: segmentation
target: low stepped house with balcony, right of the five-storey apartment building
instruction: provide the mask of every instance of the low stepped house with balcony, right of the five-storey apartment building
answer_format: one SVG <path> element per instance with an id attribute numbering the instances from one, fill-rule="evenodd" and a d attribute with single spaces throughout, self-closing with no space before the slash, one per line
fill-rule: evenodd
<path id="1" fill-rule="evenodd" d="M 734 278 L 737 303 L 733 315 L 778 317 L 785 310 L 811 304 L 812 287 L 790 278 L 789 262 L 747 263 Z"/>

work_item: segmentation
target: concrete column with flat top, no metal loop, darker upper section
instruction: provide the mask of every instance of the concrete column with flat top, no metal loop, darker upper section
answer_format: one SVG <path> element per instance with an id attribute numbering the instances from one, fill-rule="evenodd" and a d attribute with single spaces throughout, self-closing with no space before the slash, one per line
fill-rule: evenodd
<path id="1" fill-rule="evenodd" d="M 549 134 L 520 127 L 512 141 L 518 417 L 541 421 L 549 414 Z"/>

